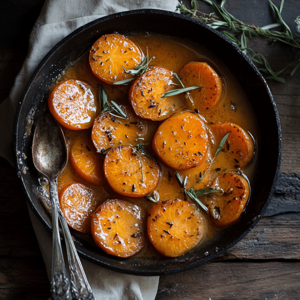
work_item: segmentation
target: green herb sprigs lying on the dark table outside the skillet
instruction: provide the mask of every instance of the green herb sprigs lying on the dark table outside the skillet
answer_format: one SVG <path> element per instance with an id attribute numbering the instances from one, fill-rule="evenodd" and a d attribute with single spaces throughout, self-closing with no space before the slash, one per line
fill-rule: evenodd
<path id="1" fill-rule="evenodd" d="M 286 80 L 279 75 L 288 67 L 294 66 L 291 71 L 291 76 L 296 72 L 300 66 L 300 58 L 291 62 L 282 70 L 274 72 L 270 67 L 268 61 L 261 53 L 256 53 L 254 50 L 247 47 L 246 36 L 252 37 L 266 37 L 272 39 L 274 42 L 279 41 L 287 44 L 293 48 L 300 48 L 299 36 L 292 33 L 289 26 L 283 20 L 281 16 L 281 11 L 283 9 L 284 0 L 281 0 L 279 9 L 269 0 L 270 7 L 279 20 L 279 23 L 269 24 L 263 27 L 256 27 L 254 25 L 247 25 L 236 19 L 224 8 L 226 0 L 222 0 L 221 4 L 218 5 L 211 0 L 202 0 L 207 4 L 211 5 L 214 9 L 214 13 L 202 13 L 198 10 L 199 4 L 196 0 L 191 1 L 192 9 L 187 9 L 181 1 L 177 6 L 179 12 L 191 16 L 192 18 L 199 19 L 205 24 L 211 26 L 214 29 L 220 30 L 220 32 L 225 35 L 229 40 L 236 44 L 242 52 L 250 57 L 250 59 L 257 64 L 261 64 L 263 67 L 259 68 L 260 71 L 266 73 L 265 79 L 274 79 L 279 82 L 285 82 Z M 300 24 L 300 16 L 295 20 L 296 24 Z M 274 28 L 281 27 L 281 31 L 274 30 Z M 298 25 L 299 27 L 299 25 Z M 297 29 L 299 30 L 299 29 Z M 298 32 L 299 33 L 299 32 Z"/>

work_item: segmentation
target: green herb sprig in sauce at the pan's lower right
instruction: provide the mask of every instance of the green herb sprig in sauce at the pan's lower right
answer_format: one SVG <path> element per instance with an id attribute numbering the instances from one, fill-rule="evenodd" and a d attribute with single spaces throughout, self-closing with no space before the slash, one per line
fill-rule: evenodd
<path id="1" fill-rule="evenodd" d="M 217 151 L 214 155 L 214 158 L 210 160 L 210 164 L 208 166 L 208 168 L 206 169 L 206 171 L 204 172 L 203 176 L 200 176 L 200 179 L 198 181 L 198 183 L 201 181 L 201 179 L 204 177 L 204 175 L 206 174 L 206 172 L 208 170 L 210 170 L 211 165 L 213 164 L 214 160 L 216 159 L 216 157 L 220 154 L 220 152 L 222 151 L 222 148 L 225 144 L 225 141 L 227 140 L 229 136 L 229 132 L 227 132 L 224 137 L 222 138 L 222 140 L 220 141 Z M 177 181 L 179 182 L 180 187 L 182 187 L 184 189 L 184 192 L 197 203 L 198 208 L 201 207 L 203 209 L 203 211 L 207 212 L 208 208 L 201 202 L 199 201 L 198 197 L 202 196 L 202 195 L 207 195 L 207 194 L 212 194 L 212 193 L 223 193 L 222 190 L 217 190 L 214 187 L 205 187 L 201 190 L 194 190 L 194 187 L 191 187 L 190 189 L 186 189 L 185 185 L 187 184 L 187 176 L 185 176 L 184 180 L 182 179 L 182 177 L 180 176 L 180 174 L 175 170 L 174 171 L 175 176 Z"/>

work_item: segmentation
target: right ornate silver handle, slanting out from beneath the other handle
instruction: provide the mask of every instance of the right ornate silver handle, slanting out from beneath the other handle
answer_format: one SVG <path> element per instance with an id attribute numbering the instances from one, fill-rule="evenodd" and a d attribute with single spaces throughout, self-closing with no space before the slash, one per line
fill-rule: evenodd
<path id="1" fill-rule="evenodd" d="M 70 283 L 72 300 L 94 300 L 94 296 L 88 280 L 85 276 L 76 248 L 74 246 L 69 227 L 64 215 L 58 207 L 58 216 L 64 233 L 64 240 L 67 247 L 69 260 Z"/>

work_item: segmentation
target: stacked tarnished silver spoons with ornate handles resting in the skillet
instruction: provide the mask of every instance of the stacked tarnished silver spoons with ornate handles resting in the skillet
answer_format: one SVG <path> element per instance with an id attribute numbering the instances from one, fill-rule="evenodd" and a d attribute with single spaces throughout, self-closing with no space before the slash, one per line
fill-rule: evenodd
<path id="1" fill-rule="evenodd" d="M 49 181 L 52 206 L 52 273 L 50 295 L 52 299 L 90 299 L 94 296 L 83 271 L 69 228 L 58 202 L 57 178 L 67 163 L 68 152 L 63 132 L 49 114 L 42 115 L 36 124 L 32 141 L 32 157 L 36 169 Z M 58 218 L 67 248 L 70 281 L 67 276 L 59 237 Z"/>

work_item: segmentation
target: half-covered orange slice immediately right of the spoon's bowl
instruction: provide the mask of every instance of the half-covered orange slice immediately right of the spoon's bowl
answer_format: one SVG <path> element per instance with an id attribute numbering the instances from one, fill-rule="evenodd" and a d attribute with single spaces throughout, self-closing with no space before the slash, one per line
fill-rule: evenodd
<path id="1" fill-rule="evenodd" d="M 88 137 L 77 137 L 71 146 L 70 162 L 83 180 L 100 185 L 104 182 L 104 158 Z"/>

